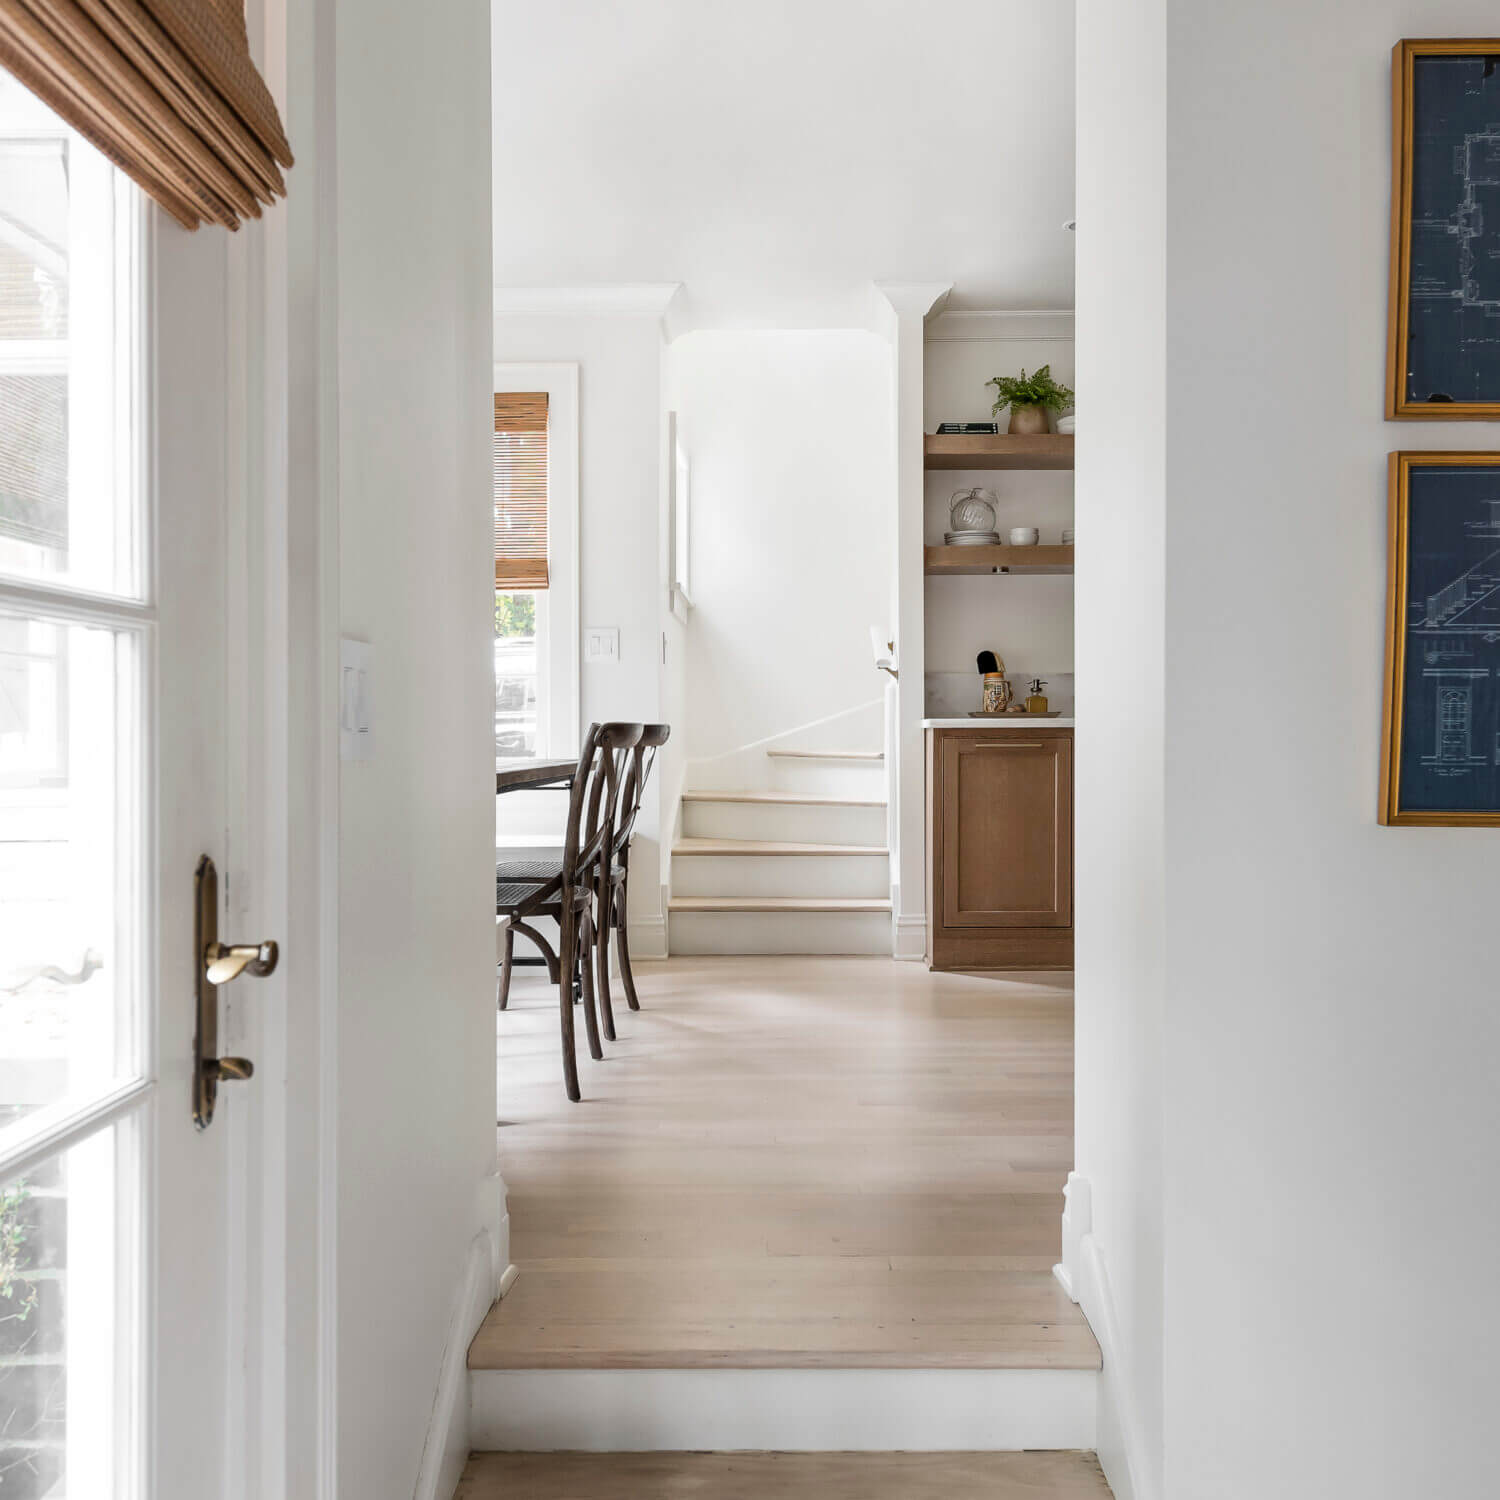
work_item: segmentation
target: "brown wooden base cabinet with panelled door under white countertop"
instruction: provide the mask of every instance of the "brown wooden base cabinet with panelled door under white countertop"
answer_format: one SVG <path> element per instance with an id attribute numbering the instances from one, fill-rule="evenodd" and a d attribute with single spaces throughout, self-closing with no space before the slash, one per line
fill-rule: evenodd
<path id="1" fill-rule="evenodd" d="M 1072 966 L 1072 730 L 927 730 L 927 962 Z"/>

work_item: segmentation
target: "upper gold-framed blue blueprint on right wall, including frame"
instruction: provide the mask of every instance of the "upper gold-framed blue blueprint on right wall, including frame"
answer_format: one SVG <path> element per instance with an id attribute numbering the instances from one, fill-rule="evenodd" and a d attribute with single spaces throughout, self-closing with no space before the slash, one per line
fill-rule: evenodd
<path id="1" fill-rule="evenodd" d="M 1386 416 L 1500 420 L 1500 39 L 1390 57 Z"/>

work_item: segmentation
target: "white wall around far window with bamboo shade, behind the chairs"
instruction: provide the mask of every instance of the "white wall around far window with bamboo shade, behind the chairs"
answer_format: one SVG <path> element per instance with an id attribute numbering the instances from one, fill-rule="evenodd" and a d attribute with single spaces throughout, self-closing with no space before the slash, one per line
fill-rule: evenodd
<path id="1" fill-rule="evenodd" d="M 579 368 L 579 600 L 580 624 L 620 630 L 620 662 L 585 664 L 579 722 L 662 718 L 662 296 L 634 288 L 618 297 L 526 294 L 549 306 L 495 314 L 495 360 L 568 362 Z M 614 306 L 606 303 L 614 302 Z M 674 726 L 675 728 L 675 726 Z M 519 831 L 561 826 L 561 796 L 498 800 L 498 824 Z M 632 854 L 632 952 L 664 952 L 660 906 L 657 786 L 636 824 Z M 639 934 L 639 938 L 638 938 Z"/>

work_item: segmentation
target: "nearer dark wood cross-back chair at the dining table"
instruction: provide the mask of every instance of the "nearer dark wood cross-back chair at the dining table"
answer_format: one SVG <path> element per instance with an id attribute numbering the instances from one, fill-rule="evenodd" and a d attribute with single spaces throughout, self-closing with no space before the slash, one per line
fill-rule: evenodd
<path id="1" fill-rule="evenodd" d="M 562 1030 L 562 1080 L 578 1102 L 578 1054 L 573 1044 L 573 999 L 578 993 L 588 1030 L 588 1050 L 604 1056 L 594 1014 L 594 898 L 598 870 L 614 849 L 620 794 L 645 724 L 590 724 L 579 752 L 568 794 L 567 832 L 561 860 L 512 860 L 495 866 L 495 914 L 506 918 L 506 954 L 501 960 L 498 1002 L 510 996 L 510 969 L 516 933 L 525 933 L 548 963 L 558 986 Z M 531 926 L 536 918 L 558 924 L 558 950 Z"/>

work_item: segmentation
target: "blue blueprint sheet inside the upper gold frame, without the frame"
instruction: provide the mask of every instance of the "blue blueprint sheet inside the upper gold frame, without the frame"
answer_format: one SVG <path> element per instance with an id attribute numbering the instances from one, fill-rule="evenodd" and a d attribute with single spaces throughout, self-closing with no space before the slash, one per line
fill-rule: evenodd
<path id="1" fill-rule="evenodd" d="M 1500 402 L 1500 56 L 1413 69 L 1406 398 Z"/>

